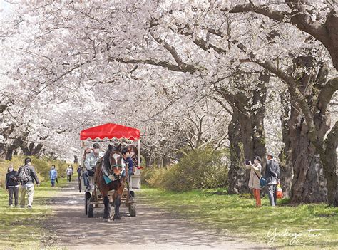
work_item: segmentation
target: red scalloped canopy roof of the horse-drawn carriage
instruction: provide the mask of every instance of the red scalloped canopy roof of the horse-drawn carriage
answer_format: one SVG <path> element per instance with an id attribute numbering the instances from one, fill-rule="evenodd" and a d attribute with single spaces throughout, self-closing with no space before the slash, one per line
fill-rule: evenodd
<path id="1" fill-rule="evenodd" d="M 140 130 L 119 124 L 106 123 L 100 126 L 87 128 L 86 130 L 82 130 L 80 133 L 80 140 L 86 140 L 88 138 L 91 138 L 92 140 L 100 138 L 103 140 L 106 137 L 108 139 L 126 138 L 129 140 L 139 140 Z"/>

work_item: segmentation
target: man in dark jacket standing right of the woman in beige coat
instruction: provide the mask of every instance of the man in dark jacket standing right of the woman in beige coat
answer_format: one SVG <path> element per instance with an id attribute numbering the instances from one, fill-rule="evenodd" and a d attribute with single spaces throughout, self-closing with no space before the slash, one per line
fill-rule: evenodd
<path id="1" fill-rule="evenodd" d="M 272 152 L 267 153 L 267 167 L 265 168 L 265 179 L 267 180 L 267 195 L 269 196 L 270 205 L 275 207 L 277 202 L 276 187 L 280 182 L 280 166 L 273 159 Z"/>

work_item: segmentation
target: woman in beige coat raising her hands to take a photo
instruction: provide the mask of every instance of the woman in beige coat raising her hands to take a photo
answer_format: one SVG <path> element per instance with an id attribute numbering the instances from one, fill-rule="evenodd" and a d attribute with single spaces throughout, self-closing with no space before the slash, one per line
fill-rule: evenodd
<path id="1" fill-rule="evenodd" d="M 254 164 L 252 165 L 252 163 L 249 162 L 249 165 L 245 166 L 247 169 L 250 169 L 249 187 L 252 189 L 254 194 L 256 207 L 260 207 L 262 205 L 260 201 L 260 178 L 262 177 L 262 165 L 260 165 L 260 162 L 262 162 L 262 159 L 259 156 L 255 156 Z"/>

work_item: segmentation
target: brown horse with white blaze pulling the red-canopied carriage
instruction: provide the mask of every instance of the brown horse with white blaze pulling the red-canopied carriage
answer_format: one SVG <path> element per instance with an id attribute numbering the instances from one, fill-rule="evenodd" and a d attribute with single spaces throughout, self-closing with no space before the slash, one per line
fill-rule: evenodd
<path id="1" fill-rule="evenodd" d="M 113 219 L 121 220 L 121 196 L 124 186 L 126 184 L 126 176 L 128 176 L 128 168 L 124 164 L 121 154 L 121 147 L 121 144 L 117 147 L 113 147 L 112 145 L 108 146 L 108 150 L 106 151 L 103 160 L 99 160 L 96 164 L 96 170 L 94 175 L 96 186 L 100 190 L 103 197 L 103 219 L 108 219 L 108 221 L 109 219 L 111 219 L 111 207 L 109 205 L 108 198 L 108 192 L 110 190 L 115 190 L 113 194 L 113 205 L 115 207 Z M 103 179 L 103 175 L 105 175 L 105 173 L 108 173 L 108 175 L 110 175 L 110 177 L 115 180 L 106 184 L 105 179 Z"/>

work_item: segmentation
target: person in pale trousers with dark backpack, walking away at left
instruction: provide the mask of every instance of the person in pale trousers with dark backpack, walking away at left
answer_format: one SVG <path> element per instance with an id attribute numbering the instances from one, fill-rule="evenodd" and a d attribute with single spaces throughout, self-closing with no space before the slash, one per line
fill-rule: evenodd
<path id="1" fill-rule="evenodd" d="M 26 194 L 28 194 L 28 208 L 31 209 L 34 197 L 34 182 L 39 187 L 40 182 L 34 167 L 31 165 L 31 158 L 26 157 L 24 165 L 18 170 L 19 182 L 21 183 L 20 207 L 25 207 Z"/>

